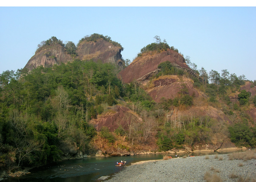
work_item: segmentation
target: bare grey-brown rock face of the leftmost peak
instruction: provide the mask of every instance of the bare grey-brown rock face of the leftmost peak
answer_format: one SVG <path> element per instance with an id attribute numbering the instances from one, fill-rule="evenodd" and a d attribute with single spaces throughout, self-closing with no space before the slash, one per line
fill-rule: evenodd
<path id="1" fill-rule="evenodd" d="M 25 68 L 28 68 L 30 71 L 41 65 L 44 68 L 50 68 L 55 64 L 59 65 L 61 63 L 67 63 L 70 60 L 72 60 L 72 57 L 67 54 L 67 51 L 63 46 L 59 44 L 48 45 L 37 51 L 27 62 Z"/>

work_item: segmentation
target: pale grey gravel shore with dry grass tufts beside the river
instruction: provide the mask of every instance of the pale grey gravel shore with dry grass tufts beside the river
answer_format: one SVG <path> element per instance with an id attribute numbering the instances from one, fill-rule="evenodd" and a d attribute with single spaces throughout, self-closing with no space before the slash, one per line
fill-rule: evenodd
<path id="1" fill-rule="evenodd" d="M 106 182 L 201 182 L 204 174 L 216 173 L 223 181 L 234 182 L 230 174 L 256 179 L 256 159 L 229 160 L 228 154 L 141 161 L 124 167 Z M 215 159 L 216 158 L 216 159 Z M 222 160 L 221 160 L 222 159 Z"/>

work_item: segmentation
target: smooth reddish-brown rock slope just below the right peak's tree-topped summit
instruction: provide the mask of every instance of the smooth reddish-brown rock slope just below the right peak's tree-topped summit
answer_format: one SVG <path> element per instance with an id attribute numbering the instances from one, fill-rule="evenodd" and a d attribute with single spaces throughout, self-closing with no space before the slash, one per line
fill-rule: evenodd
<path id="1" fill-rule="evenodd" d="M 118 75 L 123 83 L 130 83 L 134 79 L 138 80 L 143 77 L 142 80 L 144 80 L 147 78 L 147 75 L 150 75 L 151 72 L 155 72 L 158 69 L 157 67 L 161 62 L 165 61 L 170 61 L 175 66 L 191 70 L 188 65 L 186 65 L 183 56 L 174 50 L 168 49 L 158 54 L 148 54 L 138 57 L 129 66 L 120 71 Z"/>

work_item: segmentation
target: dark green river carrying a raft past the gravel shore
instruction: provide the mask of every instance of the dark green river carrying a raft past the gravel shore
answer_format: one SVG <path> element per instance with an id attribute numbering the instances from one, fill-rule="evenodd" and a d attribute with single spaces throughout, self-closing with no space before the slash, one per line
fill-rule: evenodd
<path id="1" fill-rule="evenodd" d="M 219 152 L 197 152 L 197 153 L 179 153 L 183 156 L 198 156 L 198 155 L 214 155 L 227 154 L 234 152 L 242 152 L 245 150 L 228 150 Z M 167 156 L 175 157 L 175 153 Z M 30 170 L 30 174 L 21 177 L 10 177 L 1 182 L 95 182 L 102 176 L 109 176 L 122 170 L 125 166 L 131 165 L 134 162 L 145 160 L 163 159 L 164 154 L 144 154 L 135 156 L 121 157 L 88 157 L 84 159 L 66 160 L 59 162 L 56 165 L 42 166 Z M 117 161 L 126 161 L 126 165 L 117 167 Z"/>

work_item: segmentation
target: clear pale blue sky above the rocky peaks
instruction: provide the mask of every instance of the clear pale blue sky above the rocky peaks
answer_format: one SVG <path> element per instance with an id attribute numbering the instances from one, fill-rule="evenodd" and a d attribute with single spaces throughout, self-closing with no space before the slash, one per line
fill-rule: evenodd
<path id="1" fill-rule="evenodd" d="M 52 36 L 77 44 L 84 36 L 98 33 L 122 45 L 123 59 L 133 61 L 157 35 L 184 58 L 190 56 L 198 69 L 220 74 L 227 69 L 256 80 L 253 6 L 0 6 L 0 74 L 24 68 L 37 45 Z"/>

